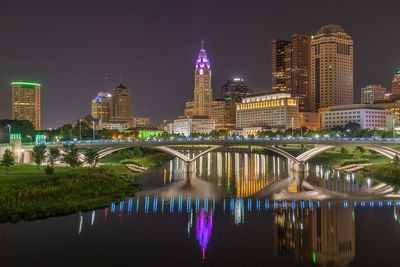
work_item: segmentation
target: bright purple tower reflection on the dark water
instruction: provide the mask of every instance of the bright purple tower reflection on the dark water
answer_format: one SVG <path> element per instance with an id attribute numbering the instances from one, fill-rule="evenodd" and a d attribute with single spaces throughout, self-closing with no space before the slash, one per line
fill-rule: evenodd
<path id="1" fill-rule="evenodd" d="M 206 213 L 204 213 L 204 208 L 201 208 L 200 214 L 196 216 L 196 237 L 201 246 L 203 260 L 206 257 L 206 248 L 211 237 L 212 216 L 213 210 L 211 209 L 207 216 Z"/>

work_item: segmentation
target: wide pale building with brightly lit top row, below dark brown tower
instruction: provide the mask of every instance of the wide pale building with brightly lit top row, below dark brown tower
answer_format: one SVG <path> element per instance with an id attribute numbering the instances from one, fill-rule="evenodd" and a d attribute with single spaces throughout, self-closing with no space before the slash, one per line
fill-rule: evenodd
<path id="1" fill-rule="evenodd" d="M 236 105 L 236 128 L 298 128 L 299 104 L 290 93 L 269 93 L 245 97 Z"/>

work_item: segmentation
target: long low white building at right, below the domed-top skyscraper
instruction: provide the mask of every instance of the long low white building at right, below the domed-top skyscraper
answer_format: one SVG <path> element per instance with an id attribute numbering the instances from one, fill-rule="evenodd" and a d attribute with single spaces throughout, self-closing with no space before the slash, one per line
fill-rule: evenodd
<path id="1" fill-rule="evenodd" d="M 381 128 L 386 126 L 386 116 L 392 115 L 381 105 L 353 104 L 333 106 L 321 110 L 323 129 L 345 126 L 349 122 L 358 123 L 361 128 Z"/>

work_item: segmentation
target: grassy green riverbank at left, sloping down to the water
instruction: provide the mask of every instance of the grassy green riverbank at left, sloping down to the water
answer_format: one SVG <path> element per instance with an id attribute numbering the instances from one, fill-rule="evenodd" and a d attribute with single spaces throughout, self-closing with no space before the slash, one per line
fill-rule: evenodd
<path id="1" fill-rule="evenodd" d="M 134 195 L 140 185 L 125 166 L 55 167 L 46 175 L 33 165 L 0 169 L 0 222 L 34 220 L 102 208 Z"/>

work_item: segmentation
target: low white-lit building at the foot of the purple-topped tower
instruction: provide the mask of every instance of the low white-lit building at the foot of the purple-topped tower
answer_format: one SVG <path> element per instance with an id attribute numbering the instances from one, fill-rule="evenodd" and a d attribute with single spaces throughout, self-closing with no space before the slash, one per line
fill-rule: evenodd
<path id="1" fill-rule="evenodd" d="M 215 123 L 212 119 L 186 118 L 174 120 L 174 134 L 190 136 L 192 134 L 209 134 L 215 130 Z"/>

